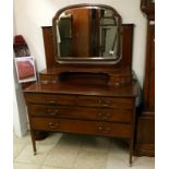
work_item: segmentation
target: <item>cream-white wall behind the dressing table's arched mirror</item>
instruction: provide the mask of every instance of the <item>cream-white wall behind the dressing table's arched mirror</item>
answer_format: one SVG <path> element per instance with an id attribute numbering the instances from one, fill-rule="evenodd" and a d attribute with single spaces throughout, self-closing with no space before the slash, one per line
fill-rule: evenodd
<path id="1" fill-rule="evenodd" d="M 38 71 L 46 68 L 41 26 L 51 26 L 56 12 L 65 5 L 75 3 L 102 3 L 113 7 L 122 16 L 122 23 L 134 23 L 133 70 L 141 86 L 144 79 L 146 17 L 140 10 L 141 0 L 14 0 L 15 34 L 23 35 L 31 53 L 36 59 Z M 17 106 L 21 107 L 17 100 Z M 25 112 L 22 112 L 25 113 Z M 26 116 L 24 114 L 24 124 Z M 16 125 L 14 123 L 14 125 Z"/>

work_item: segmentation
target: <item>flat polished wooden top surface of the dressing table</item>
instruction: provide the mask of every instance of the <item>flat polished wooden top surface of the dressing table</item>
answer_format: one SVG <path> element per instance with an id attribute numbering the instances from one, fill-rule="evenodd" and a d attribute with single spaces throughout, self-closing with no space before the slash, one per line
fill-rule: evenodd
<path id="1" fill-rule="evenodd" d="M 121 87 L 110 86 L 87 86 L 87 85 L 72 85 L 71 83 L 56 83 L 56 82 L 36 82 L 28 86 L 25 93 L 53 93 L 53 94 L 76 94 L 89 96 L 114 96 L 114 97 L 135 97 L 138 93 L 137 82 L 131 85 Z"/>

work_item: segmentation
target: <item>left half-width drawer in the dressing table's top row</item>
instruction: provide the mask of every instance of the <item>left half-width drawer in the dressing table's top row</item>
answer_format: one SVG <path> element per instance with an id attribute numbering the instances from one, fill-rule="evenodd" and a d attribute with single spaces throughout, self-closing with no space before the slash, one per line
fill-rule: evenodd
<path id="1" fill-rule="evenodd" d="M 75 96 L 52 94 L 25 94 L 27 102 L 48 105 L 75 105 Z"/>

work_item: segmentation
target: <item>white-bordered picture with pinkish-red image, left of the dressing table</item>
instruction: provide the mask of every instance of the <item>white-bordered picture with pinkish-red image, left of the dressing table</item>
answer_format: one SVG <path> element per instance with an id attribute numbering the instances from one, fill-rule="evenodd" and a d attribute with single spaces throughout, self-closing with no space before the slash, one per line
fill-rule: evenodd
<path id="1" fill-rule="evenodd" d="M 37 80 L 34 57 L 14 58 L 19 83 Z"/>

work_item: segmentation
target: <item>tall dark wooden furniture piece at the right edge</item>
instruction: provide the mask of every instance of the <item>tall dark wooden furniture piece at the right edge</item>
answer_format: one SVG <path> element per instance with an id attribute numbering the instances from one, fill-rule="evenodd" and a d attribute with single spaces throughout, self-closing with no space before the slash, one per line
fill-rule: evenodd
<path id="1" fill-rule="evenodd" d="M 155 156 L 155 4 L 150 0 L 142 0 L 141 9 L 147 16 L 147 39 L 143 108 L 137 116 L 135 155 Z"/>

